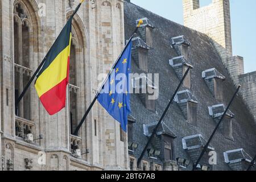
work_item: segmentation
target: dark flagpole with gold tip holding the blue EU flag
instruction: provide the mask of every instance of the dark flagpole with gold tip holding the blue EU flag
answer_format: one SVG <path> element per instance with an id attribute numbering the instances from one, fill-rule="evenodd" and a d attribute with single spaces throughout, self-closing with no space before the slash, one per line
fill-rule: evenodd
<path id="1" fill-rule="evenodd" d="M 128 41 L 127 44 L 125 45 L 125 48 L 123 48 L 123 51 L 120 53 L 120 55 L 118 56 L 118 59 L 117 59 L 117 60 L 115 61 L 115 63 L 113 64 L 112 68 L 110 69 L 110 72 L 109 72 L 108 76 L 105 78 L 105 81 L 104 81 L 103 84 L 101 85 L 100 90 L 97 91 L 96 96 L 94 97 L 92 103 L 89 105 L 88 109 L 86 110 L 86 112 L 85 112 L 84 116 L 82 117 L 82 119 L 81 119 L 79 125 L 76 127 L 76 130 L 75 130 L 75 132 L 73 133 L 73 135 L 76 135 L 76 136 L 78 135 L 78 132 L 79 132 L 80 128 L 82 127 L 82 124 L 85 122 L 86 117 L 88 116 L 90 110 L 92 109 L 93 105 L 95 104 L 95 102 L 96 102 L 96 100 L 97 100 L 97 98 L 98 98 L 98 96 L 99 96 L 99 94 L 100 94 L 101 89 L 103 88 L 103 86 L 105 85 L 106 81 L 108 80 L 108 77 L 109 77 L 110 73 L 112 73 L 113 68 L 115 67 L 115 65 L 117 65 L 118 60 L 119 60 L 120 57 L 123 55 L 123 52 L 125 51 L 125 49 L 126 49 L 127 46 L 129 45 L 129 42 L 131 41 L 131 39 L 133 39 L 135 33 L 137 32 L 138 28 L 141 26 L 142 23 L 143 23 L 143 21 L 142 21 L 142 20 L 139 20 L 139 22 L 138 22 L 138 24 L 137 24 L 137 27 L 135 28 L 135 30 L 134 30 L 134 32 L 133 32 L 133 35 L 131 35 L 131 38 L 129 39 L 129 41 Z"/>

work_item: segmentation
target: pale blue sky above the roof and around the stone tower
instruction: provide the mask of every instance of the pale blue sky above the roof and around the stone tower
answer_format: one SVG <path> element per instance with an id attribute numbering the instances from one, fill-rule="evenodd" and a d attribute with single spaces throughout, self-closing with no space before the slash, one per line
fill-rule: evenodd
<path id="1" fill-rule="evenodd" d="M 182 0 L 131 0 L 164 18 L 183 24 Z M 212 0 L 200 0 L 209 5 Z M 256 71 L 256 0 L 230 0 L 233 55 L 242 56 L 245 73 Z"/>

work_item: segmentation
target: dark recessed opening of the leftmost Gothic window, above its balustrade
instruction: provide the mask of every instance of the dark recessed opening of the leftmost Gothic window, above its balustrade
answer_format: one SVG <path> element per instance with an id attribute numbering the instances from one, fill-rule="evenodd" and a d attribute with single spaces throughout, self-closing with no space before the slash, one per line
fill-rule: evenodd
<path id="1" fill-rule="evenodd" d="M 32 26 L 30 16 L 27 14 L 26 7 L 17 3 L 14 6 L 14 63 L 15 63 L 15 100 L 18 99 L 20 93 L 27 85 L 31 78 L 31 48 Z M 16 105 L 15 114 L 18 117 L 31 120 L 31 88 L 27 90 L 20 101 Z"/>

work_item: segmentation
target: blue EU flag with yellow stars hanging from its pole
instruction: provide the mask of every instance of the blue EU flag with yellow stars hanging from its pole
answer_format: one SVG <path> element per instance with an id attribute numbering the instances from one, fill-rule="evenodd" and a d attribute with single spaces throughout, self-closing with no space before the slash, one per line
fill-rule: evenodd
<path id="1" fill-rule="evenodd" d="M 125 132 L 127 131 L 127 117 L 131 113 L 129 96 L 131 46 L 130 40 L 97 98 L 106 111 L 121 123 L 122 130 Z"/>

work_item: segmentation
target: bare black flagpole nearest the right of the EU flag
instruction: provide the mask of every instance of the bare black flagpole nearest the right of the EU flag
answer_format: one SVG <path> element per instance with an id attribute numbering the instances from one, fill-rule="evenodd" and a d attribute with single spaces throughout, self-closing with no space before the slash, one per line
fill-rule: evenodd
<path id="1" fill-rule="evenodd" d="M 174 98 L 175 98 L 177 92 L 179 92 L 180 86 L 183 84 L 183 81 L 184 81 L 185 78 L 187 77 L 188 72 L 189 72 L 189 70 L 190 70 L 191 68 L 192 68 L 192 67 L 188 67 L 187 71 L 185 72 L 183 78 L 182 78 L 181 81 L 180 81 L 179 86 L 177 86 L 177 89 L 175 90 L 174 94 L 172 95 L 172 98 L 171 98 L 169 104 L 167 105 L 166 110 L 164 110 L 164 113 L 163 113 L 162 117 L 159 119 L 158 124 L 156 125 L 154 131 L 152 132 L 150 138 L 148 139 L 147 144 L 146 144 L 146 146 L 144 147 L 144 150 L 142 151 L 141 156 L 140 156 L 139 159 L 138 159 L 137 167 L 139 167 L 139 164 L 141 163 L 141 160 L 142 160 L 142 158 L 143 158 L 143 156 L 144 156 L 144 154 L 145 154 L 145 152 L 146 152 L 146 150 L 147 150 L 147 147 L 149 146 L 149 144 L 150 144 L 152 138 L 154 137 L 154 135 L 156 134 L 156 131 L 158 130 L 158 127 L 159 127 L 160 124 L 162 123 L 163 118 L 166 116 L 167 111 L 168 111 L 168 109 L 170 108 L 170 106 L 171 106 L 171 104 L 172 104 L 172 101 L 174 101 Z"/>

